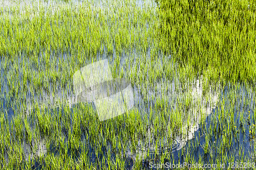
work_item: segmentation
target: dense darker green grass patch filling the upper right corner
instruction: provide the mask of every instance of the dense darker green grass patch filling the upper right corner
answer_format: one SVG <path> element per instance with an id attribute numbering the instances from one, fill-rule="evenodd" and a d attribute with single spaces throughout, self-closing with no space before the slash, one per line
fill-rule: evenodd
<path id="1" fill-rule="evenodd" d="M 214 80 L 255 80 L 255 1 L 156 2 L 162 44 L 181 65 Z"/>

